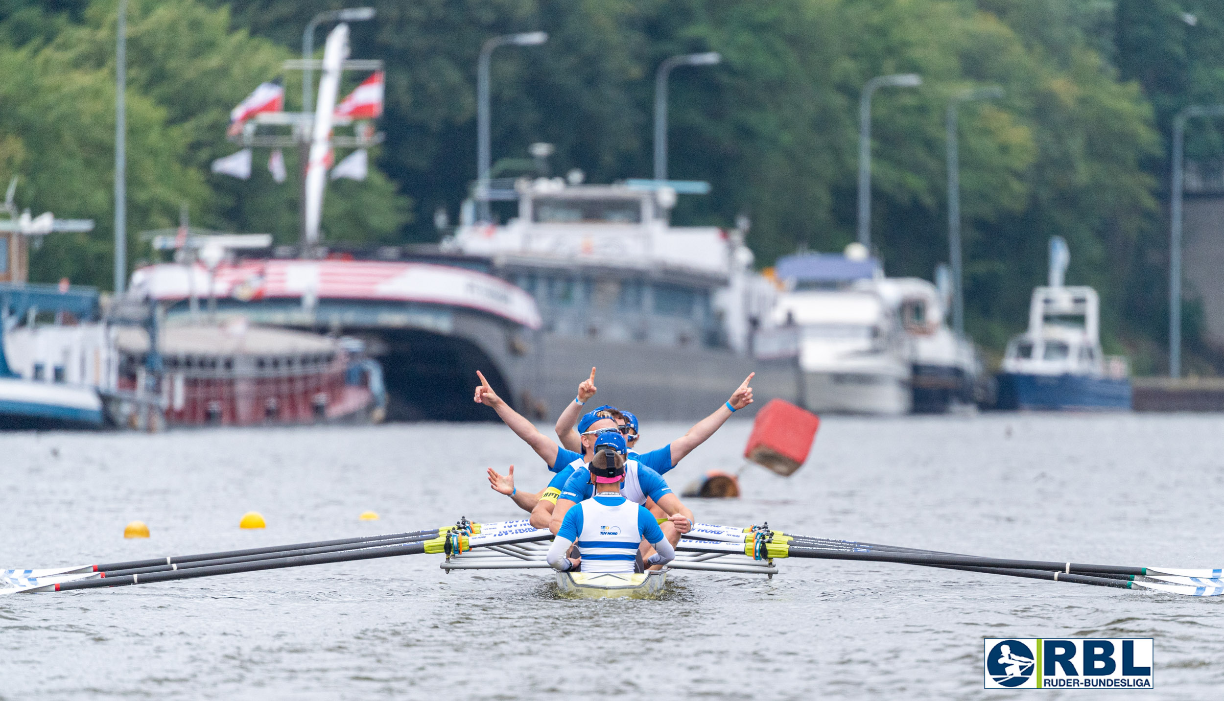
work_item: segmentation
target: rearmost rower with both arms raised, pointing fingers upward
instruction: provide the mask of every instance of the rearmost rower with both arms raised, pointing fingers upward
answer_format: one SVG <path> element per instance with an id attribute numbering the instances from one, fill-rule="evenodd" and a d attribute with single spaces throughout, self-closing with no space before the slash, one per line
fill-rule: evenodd
<path id="1" fill-rule="evenodd" d="M 688 433 L 671 442 L 668 445 L 651 450 L 650 453 L 636 453 L 634 447 L 638 444 L 639 432 L 638 432 L 638 417 L 633 414 L 619 410 L 618 423 L 621 423 L 621 432 L 625 434 L 625 440 L 629 445 L 629 459 L 636 460 L 640 465 L 646 465 L 660 475 L 666 475 L 668 470 L 679 465 L 689 453 L 692 453 L 698 445 L 705 443 L 707 438 L 714 436 L 714 432 L 722 427 L 723 423 L 731 415 L 741 409 L 748 406 L 753 402 L 753 388 L 749 387 L 749 382 L 756 373 L 750 373 L 744 382 L 739 383 L 736 391 L 731 394 L 731 399 L 726 401 L 722 406 L 714 410 L 714 414 L 706 416 L 701 421 L 693 425 L 693 428 L 688 429 Z M 583 428 L 574 431 L 574 423 L 583 412 L 583 405 L 586 404 L 592 396 L 595 396 L 595 368 L 591 368 L 591 377 L 584 379 L 578 385 L 578 396 L 574 401 L 565 406 L 565 410 L 561 412 L 557 418 L 557 438 L 561 444 L 567 449 L 578 449 L 579 434 Z M 608 411 L 616 407 L 605 404 L 603 406 L 596 409 L 595 411 Z"/>

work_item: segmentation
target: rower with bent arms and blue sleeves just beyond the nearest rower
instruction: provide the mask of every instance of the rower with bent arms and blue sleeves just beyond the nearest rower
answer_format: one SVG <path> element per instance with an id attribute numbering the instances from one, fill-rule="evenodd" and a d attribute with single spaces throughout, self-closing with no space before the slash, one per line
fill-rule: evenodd
<path id="1" fill-rule="evenodd" d="M 693 529 L 693 511 L 681 503 L 679 498 L 672 493 L 667 482 L 650 467 L 645 465 L 639 465 L 636 460 L 628 459 L 628 447 L 624 443 L 624 437 L 621 436 L 619 431 L 610 428 L 600 428 L 599 423 L 608 421 L 601 418 L 599 422 L 591 425 L 589 431 L 583 432 L 583 443 L 588 444 L 590 436 L 594 434 L 595 439 L 590 440 L 594 447 L 596 443 L 600 445 L 614 445 L 617 453 L 625 455 L 624 465 L 624 481 L 621 484 L 621 495 L 633 502 L 635 504 L 645 505 L 646 500 L 650 499 L 663 511 L 667 520 L 661 525 L 663 537 L 672 546 L 679 542 L 681 535 L 689 532 Z M 588 451 L 586 461 L 590 464 L 594 458 L 594 453 Z M 590 499 L 595 494 L 594 480 L 589 466 L 578 467 L 574 473 L 565 482 L 565 488 L 561 492 L 561 497 L 557 499 L 557 505 L 552 510 L 552 522 L 548 529 L 553 533 L 561 530 L 561 525 L 564 522 L 565 514 L 575 504 Z M 643 548 L 643 558 L 649 558 L 650 548 L 645 546 Z"/>

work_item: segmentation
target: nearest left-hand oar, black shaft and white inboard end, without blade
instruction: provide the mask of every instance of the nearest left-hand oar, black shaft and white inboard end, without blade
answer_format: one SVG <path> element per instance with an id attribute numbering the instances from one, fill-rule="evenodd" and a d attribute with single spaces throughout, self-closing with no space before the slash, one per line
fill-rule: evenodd
<path id="1" fill-rule="evenodd" d="M 471 547 L 483 547 L 493 544 L 506 544 L 506 543 L 530 543 L 536 541 L 550 541 L 552 540 L 552 532 L 547 530 L 535 530 L 526 533 L 501 533 L 501 535 L 480 535 L 466 537 L 466 542 Z M 443 538 L 437 538 L 442 541 Z M 436 546 L 436 547 L 435 547 Z M 357 549 L 357 551 L 344 551 L 339 553 L 318 553 L 312 555 L 296 555 L 286 558 L 271 558 L 262 559 L 250 563 L 233 563 L 226 565 L 209 565 L 198 568 L 186 568 L 173 571 L 159 571 L 149 574 L 130 574 L 121 576 L 108 576 L 105 579 L 91 579 L 81 581 L 69 581 L 50 585 L 43 587 L 47 591 L 72 591 L 78 588 L 99 588 L 106 586 L 127 586 L 137 584 L 149 584 L 160 581 L 174 581 L 185 580 L 195 577 L 206 577 L 214 575 L 229 575 L 239 573 L 251 573 L 259 570 L 275 570 L 284 568 L 300 568 L 305 565 L 322 565 L 329 563 L 346 563 L 354 560 L 370 560 L 376 558 L 393 558 L 399 555 L 415 555 L 425 552 L 441 552 L 438 548 L 442 543 L 436 543 L 435 541 L 416 541 L 411 543 L 401 543 L 397 546 L 382 546 L 375 544 L 372 547 Z M 37 590 L 27 590 L 37 591 Z"/>

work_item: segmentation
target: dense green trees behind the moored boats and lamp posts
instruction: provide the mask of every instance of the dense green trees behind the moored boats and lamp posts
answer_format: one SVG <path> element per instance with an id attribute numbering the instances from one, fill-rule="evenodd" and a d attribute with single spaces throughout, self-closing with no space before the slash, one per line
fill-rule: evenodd
<path id="1" fill-rule="evenodd" d="M 1224 4 L 370 4 L 377 18 L 353 26 L 353 46 L 356 57 L 387 62 L 388 139 L 377 153 L 379 175 L 329 191 L 329 240 L 432 241 L 437 208 L 458 217 L 475 175 L 476 55 L 492 35 L 545 29 L 551 37 L 494 54 L 494 161 L 523 159 L 528 144 L 546 141 L 557 147 L 554 172 L 580 168 L 595 182 L 649 176 L 659 62 L 720 51 L 718 66 L 672 73 L 670 175 L 714 184 L 707 197 L 682 198 L 676 221 L 730 225 L 747 213 L 761 265 L 799 246 L 840 250 L 853 239 L 859 92 L 871 76 L 918 72 L 923 87 L 875 98 L 873 240 L 889 273 L 929 278 L 947 259 L 946 105 L 966 88 L 1000 86 L 1004 98 L 961 108 L 969 330 L 999 349 L 1024 324 L 1047 241 L 1058 234 L 1071 245 L 1069 280 L 1102 292 L 1106 345 L 1127 346 L 1141 371 L 1163 365 L 1169 124 L 1186 104 L 1224 99 Z M 235 181 L 208 174 L 207 164 L 235 149 L 223 138 L 226 110 L 280 76 L 280 60 L 300 50 L 310 18 L 341 4 L 130 6 L 130 228 L 166 225 L 188 201 L 204 225 L 293 240 L 293 179 L 278 186 L 257 169 L 251 181 Z M 7 98 L 0 175 L 26 179 L 23 204 L 100 224 L 93 235 L 49 242 L 35 259 L 44 279 L 109 279 L 114 7 L 114 0 L 0 6 L 0 61 L 10 69 L 0 78 Z M 284 77 L 296 109 L 300 77 Z M 1195 127 L 1191 155 L 1220 153 L 1215 126 Z M 1193 314 L 1189 321 L 1193 328 Z M 1192 362 L 1206 362 L 1200 350 Z"/>

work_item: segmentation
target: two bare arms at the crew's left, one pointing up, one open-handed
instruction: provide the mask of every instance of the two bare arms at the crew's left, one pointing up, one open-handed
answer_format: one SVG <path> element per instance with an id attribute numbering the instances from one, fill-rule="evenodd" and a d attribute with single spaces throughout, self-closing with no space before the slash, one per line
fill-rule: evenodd
<path id="1" fill-rule="evenodd" d="M 548 465 L 548 470 L 557 473 L 552 478 L 552 482 L 539 493 L 518 492 L 514 487 L 513 473 L 503 477 L 492 469 L 488 470 L 488 484 L 497 492 L 509 495 L 523 510 L 531 511 L 530 521 L 532 526 L 546 529 L 552 521 L 552 509 L 557 503 L 557 497 L 574 471 L 574 465 L 572 464 L 580 461 L 583 456 L 558 447 L 551 438 L 540 433 L 535 425 L 518 411 L 514 411 L 510 405 L 506 404 L 506 400 L 497 396 L 493 388 L 488 385 L 488 380 L 485 379 L 483 373 L 476 371 L 476 377 L 480 378 L 480 385 L 476 387 L 474 401 L 492 407 L 506 426 L 521 438 L 524 443 L 530 445 L 536 451 L 536 455 Z"/>

